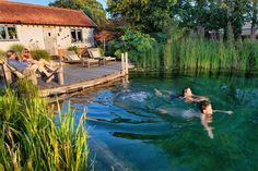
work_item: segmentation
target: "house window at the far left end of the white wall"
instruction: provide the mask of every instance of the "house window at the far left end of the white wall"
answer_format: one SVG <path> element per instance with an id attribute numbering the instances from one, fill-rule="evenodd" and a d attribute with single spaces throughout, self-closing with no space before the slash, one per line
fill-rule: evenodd
<path id="1" fill-rule="evenodd" d="M 16 27 L 0 25 L 0 40 L 17 40 Z"/>

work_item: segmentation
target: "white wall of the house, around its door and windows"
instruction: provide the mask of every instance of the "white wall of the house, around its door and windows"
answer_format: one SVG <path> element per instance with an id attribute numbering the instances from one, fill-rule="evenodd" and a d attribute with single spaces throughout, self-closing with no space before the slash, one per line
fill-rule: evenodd
<path id="1" fill-rule="evenodd" d="M 64 27 L 64 26 L 33 26 L 33 25 L 16 25 L 19 40 L 15 41 L 2 41 L 0 40 L 0 49 L 9 50 L 14 44 L 22 44 L 28 49 L 45 49 L 44 30 L 48 32 L 49 28 L 57 35 L 57 48 L 67 49 L 70 46 L 77 46 L 79 48 L 94 46 L 94 28 L 87 27 Z M 83 33 L 83 42 L 71 42 L 71 28 L 80 28 Z"/>

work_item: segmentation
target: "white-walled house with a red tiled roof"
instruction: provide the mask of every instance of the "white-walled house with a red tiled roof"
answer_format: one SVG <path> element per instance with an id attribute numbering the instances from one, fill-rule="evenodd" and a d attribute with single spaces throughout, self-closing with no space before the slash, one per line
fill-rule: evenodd
<path id="1" fill-rule="evenodd" d="M 94 46 L 96 24 L 82 11 L 0 1 L 0 49 L 14 44 L 62 56 L 71 46 Z"/>

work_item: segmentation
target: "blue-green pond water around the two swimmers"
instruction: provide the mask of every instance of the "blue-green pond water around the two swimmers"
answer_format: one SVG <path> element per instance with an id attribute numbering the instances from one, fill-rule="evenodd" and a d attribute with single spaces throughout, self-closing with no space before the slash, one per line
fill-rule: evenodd
<path id="1" fill-rule="evenodd" d="M 213 114 L 213 139 L 200 123 L 199 103 L 169 97 L 186 86 L 214 109 L 234 112 Z M 77 121 L 87 108 L 90 164 L 96 171 L 258 169 L 256 76 L 131 73 L 128 84 L 85 90 L 64 101 L 63 110 L 68 101 Z"/>

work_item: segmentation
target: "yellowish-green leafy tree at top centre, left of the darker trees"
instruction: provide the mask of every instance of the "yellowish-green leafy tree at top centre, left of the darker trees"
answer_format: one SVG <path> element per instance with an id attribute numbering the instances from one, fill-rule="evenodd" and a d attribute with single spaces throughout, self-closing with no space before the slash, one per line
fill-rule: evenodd
<path id="1" fill-rule="evenodd" d="M 107 0 L 112 17 L 126 20 L 144 33 L 162 32 L 171 24 L 171 10 L 176 0 Z"/>

